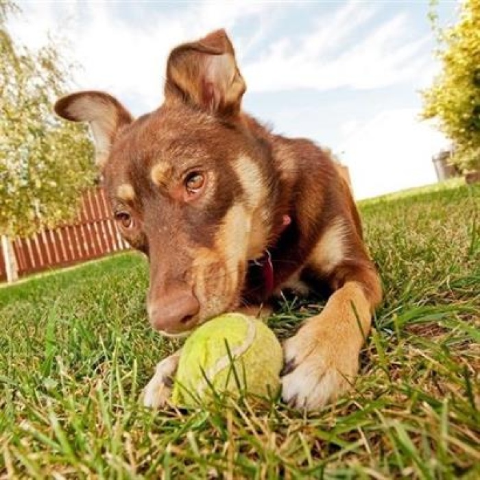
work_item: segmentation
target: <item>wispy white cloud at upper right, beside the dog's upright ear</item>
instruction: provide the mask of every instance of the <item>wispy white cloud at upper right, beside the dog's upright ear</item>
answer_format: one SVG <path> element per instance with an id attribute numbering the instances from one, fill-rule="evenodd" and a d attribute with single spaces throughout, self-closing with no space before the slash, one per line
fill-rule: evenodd
<path id="1" fill-rule="evenodd" d="M 364 3 L 349 2 L 296 42 L 282 38 L 243 68 L 249 90 L 379 88 L 416 80 L 431 64 L 421 54 L 428 37 L 412 39 L 404 14 L 372 27 L 374 13 Z M 369 32 L 359 34 L 367 25 Z"/>

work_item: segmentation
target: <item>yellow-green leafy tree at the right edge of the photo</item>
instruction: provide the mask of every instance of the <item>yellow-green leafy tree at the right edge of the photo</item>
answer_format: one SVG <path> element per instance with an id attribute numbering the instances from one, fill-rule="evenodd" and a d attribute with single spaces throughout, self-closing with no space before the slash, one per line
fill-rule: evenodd
<path id="1" fill-rule="evenodd" d="M 422 92 L 423 117 L 440 121 L 440 130 L 454 143 L 452 163 L 480 168 L 480 0 L 464 0 L 459 21 L 440 29 L 437 56 L 442 72 Z"/>

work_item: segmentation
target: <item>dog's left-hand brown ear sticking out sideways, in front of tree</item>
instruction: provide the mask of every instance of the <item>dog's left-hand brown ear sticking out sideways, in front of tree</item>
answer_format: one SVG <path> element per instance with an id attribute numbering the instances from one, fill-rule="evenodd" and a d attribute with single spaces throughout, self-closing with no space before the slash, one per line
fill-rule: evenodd
<path id="1" fill-rule="evenodd" d="M 59 99 L 54 108 L 64 119 L 90 123 L 99 167 L 104 166 L 119 128 L 133 121 L 117 99 L 103 92 L 73 93 Z"/>

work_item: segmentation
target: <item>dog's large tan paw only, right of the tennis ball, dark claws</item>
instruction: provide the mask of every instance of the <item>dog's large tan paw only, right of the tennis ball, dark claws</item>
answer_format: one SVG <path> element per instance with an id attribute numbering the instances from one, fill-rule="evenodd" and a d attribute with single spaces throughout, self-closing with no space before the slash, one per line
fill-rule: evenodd
<path id="1" fill-rule="evenodd" d="M 284 344 L 282 396 L 293 407 L 313 410 L 346 392 L 358 370 L 359 348 L 307 324 Z"/>

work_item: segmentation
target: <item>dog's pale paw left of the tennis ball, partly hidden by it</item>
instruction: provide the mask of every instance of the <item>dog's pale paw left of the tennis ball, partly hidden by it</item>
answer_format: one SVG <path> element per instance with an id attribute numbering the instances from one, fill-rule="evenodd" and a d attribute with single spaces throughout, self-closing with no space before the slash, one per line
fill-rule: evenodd
<path id="1" fill-rule="evenodd" d="M 171 396 L 173 376 L 177 370 L 179 357 L 180 352 L 174 353 L 156 365 L 152 380 L 147 383 L 143 390 L 143 405 L 145 407 L 158 409 L 167 405 Z"/>

